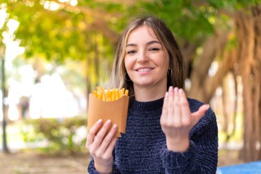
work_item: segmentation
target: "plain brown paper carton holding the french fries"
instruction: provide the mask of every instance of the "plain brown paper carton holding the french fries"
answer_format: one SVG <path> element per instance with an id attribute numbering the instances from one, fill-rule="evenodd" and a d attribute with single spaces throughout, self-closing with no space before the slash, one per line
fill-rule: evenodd
<path id="1" fill-rule="evenodd" d="M 126 132 L 128 99 L 128 96 L 122 96 L 118 100 L 106 102 L 95 98 L 93 94 L 89 94 L 87 129 L 90 130 L 93 124 L 100 119 L 103 120 L 103 123 L 110 119 L 111 127 L 113 124 L 117 124 L 118 126 L 115 137 L 120 138 L 120 133 Z"/>

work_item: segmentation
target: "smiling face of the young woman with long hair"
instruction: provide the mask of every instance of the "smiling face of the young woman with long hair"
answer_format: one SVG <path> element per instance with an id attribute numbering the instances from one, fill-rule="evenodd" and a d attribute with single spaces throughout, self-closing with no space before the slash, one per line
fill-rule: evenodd
<path id="1" fill-rule="evenodd" d="M 169 61 L 152 28 L 142 25 L 128 35 L 124 65 L 135 89 L 152 85 L 166 89 Z"/>

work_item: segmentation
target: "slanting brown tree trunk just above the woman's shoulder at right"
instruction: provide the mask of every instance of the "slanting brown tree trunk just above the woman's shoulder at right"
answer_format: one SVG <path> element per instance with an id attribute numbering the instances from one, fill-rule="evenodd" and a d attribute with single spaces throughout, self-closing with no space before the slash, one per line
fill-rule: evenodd
<path id="1" fill-rule="evenodd" d="M 203 54 L 199 56 L 198 61 L 192 68 L 190 80 L 191 89 L 188 91 L 188 96 L 208 103 L 216 88 L 221 85 L 223 77 L 229 72 L 234 62 L 233 51 L 223 56 L 223 63 L 218 68 L 215 76 L 208 76 L 209 67 L 212 65 L 214 58 L 221 56 L 227 43 L 227 33 L 216 34 L 209 38 L 203 46 Z M 225 63 L 224 63 L 225 62 Z"/>

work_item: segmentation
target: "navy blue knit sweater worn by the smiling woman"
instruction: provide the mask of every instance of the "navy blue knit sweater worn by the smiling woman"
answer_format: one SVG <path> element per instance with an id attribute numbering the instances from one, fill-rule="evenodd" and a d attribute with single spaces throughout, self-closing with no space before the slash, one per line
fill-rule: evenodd
<path id="1" fill-rule="evenodd" d="M 190 110 L 202 102 L 188 99 Z M 183 153 L 168 151 L 160 125 L 163 98 L 151 102 L 134 101 L 128 109 L 126 133 L 115 146 L 113 173 L 216 173 L 218 163 L 218 127 L 216 116 L 208 109 L 190 131 L 190 147 Z M 93 158 L 90 174 L 95 171 Z"/>

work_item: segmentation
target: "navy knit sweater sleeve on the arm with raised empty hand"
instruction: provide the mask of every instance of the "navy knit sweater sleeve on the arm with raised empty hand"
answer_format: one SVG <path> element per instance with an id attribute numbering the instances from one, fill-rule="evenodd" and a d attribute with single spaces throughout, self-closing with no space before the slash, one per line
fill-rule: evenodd
<path id="1" fill-rule="evenodd" d="M 190 146 L 183 153 L 161 149 L 165 173 L 216 173 L 218 164 L 218 127 L 214 112 L 209 109 L 190 131 Z"/>

